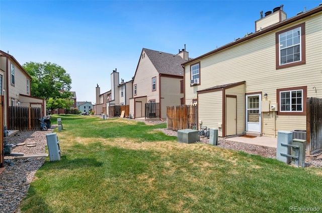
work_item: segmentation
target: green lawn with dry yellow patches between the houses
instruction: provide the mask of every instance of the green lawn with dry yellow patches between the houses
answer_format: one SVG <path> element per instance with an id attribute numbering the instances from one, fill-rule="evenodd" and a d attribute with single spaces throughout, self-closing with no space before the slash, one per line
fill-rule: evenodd
<path id="1" fill-rule="evenodd" d="M 22 212 L 289 212 L 322 209 L 322 169 L 177 137 L 126 119 L 60 117 L 61 160 L 36 172 Z"/>

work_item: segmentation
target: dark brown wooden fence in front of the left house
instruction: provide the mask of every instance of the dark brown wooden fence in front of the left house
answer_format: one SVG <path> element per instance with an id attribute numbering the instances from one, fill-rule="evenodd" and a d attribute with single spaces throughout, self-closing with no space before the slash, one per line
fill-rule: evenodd
<path id="1" fill-rule="evenodd" d="M 40 130 L 41 109 L 37 107 L 9 107 L 9 125 L 11 130 Z"/>

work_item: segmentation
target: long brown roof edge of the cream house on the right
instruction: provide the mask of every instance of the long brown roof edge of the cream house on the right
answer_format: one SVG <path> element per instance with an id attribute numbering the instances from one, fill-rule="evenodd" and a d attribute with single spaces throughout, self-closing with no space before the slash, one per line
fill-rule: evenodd
<path id="1" fill-rule="evenodd" d="M 309 11 L 305 12 L 305 13 L 301 13 L 301 14 L 299 14 L 299 15 L 296 15 L 296 16 L 294 16 L 294 17 L 290 18 L 290 19 L 286 19 L 286 20 L 284 20 L 284 21 L 281 21 L 281 22 L 279 22 L 279 23 L 276 23 L 276 24 L 274 24 L 274 25 L 271 25 L 271 26 L 269 26 L 269 27 L 266 27 L 266 28 L 264 28 L 264 29 L 262 29 L 262 30 L 260 30 L 260 31 L 257 31 L 257 32 L 255 32 L 255 33 L 252 33 L 252 34 L 248 35 L 248 36 L 245 36 L 244 38 L 241 38 L 241 39 L 238 39 L 238 40 L 236 40 L 236 41 L 234 41 L 234 42 L 228 43 L 228 44 L 226 44 L 226 45 L 224 45 L 224 46 L 222 46 L 222 47 L 219 47 L 219 48 L 217 48 L 217 49 L 215 49 L 215 50 L 213 50 L 213 51 L 210 51 L 210 52 L 208 52 L 208 53 L 206 53 L 206 54 L 203 54 L 203 55 L 201 55 L 201 56 L 199 56 L 199 57 L 197 57 L 197 58 L 194 58 L 194 59 L 192 59 L 192 60 L 186 61 L 186 62 L 185 62 L 185 63 L 183 63 L 182 65 L 184 66 L 184 65 L 186 65 L 186 64 L 190 64 L 190 63 L 192 63 L 192 62 L 196 62 L 196 61 L 198 61 L 198 60 L 200 60 L 200 59 L 202 59 L 202 58 L 204 58 L 204 57 L 207 57 L 207 56 L 210 56 L 210 55 L 212 55 L 212 54 L 215 54 L 215 53 L 217 53 L 217 52 L 219 52 L 219 51 L 225 50 L 225 49 L 227 49 L 227 48 L 229 48 L 229 47 L 231 47 L 231 46 L 234 46 L 234 45 L 240 44 L 240 43 L 242 43 L 242 42 L 248 41 L 248 40 L 250 40 L 250 39 L 253 39 L 253 38 L 255 38 L 255 37 L 258 37 L 258 36 L 260 36 L 260 35 L 263 35 L 263 34 L 265 34 L 265 33 L 269 33 L 269 32 L 271 32 L 272 30 L 275 30 L 275 29 L 278 29 L 278 28 L 280 28 L 280 27 L 286 26 L 286 25 L 288 25 L 288 24 L 291 24 L 291 23 L 296 22 L 296 21 L 298 21 L 298 20 L 304 19 L 304 18 L 306 18 L 306 17 L 309 17 L 309 16 L 311 16 L 311 15 L 313 15 L 313 14 L 316 14 L 316 13 L 319 13 L 319 12 L 322 12 L 322 5 L 320 5 L 320 6 L 316 7 L 316 8 L 313 8 L 313 9 L 311 9 L 311 10 L 309 10 Z"/>

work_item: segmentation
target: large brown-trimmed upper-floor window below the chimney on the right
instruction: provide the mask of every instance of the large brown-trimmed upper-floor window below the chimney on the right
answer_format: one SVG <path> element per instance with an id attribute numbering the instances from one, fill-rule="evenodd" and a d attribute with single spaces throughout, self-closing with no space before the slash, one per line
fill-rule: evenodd
<path id="1" fill-rule="evenodd" d="M 305 64 L 305 23 L 276 33 L 276 69 Z"/>

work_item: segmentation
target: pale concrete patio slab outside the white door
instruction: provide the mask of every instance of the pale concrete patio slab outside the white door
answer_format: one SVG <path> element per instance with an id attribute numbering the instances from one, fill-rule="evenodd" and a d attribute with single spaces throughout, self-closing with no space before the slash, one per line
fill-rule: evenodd
<path id="1" fill-rule="evenodd" d="M 228 137 L 225 138 L 225 140 L 240 142 L 240 143 L 249 143 L 249 144 L 255 144 L 255 145 L 261 145 L 261 146 L 268 146 L 268 147 L 277 147 L 277 138 L 273 137 L 254 137 L 254 138 L 248 138 L 248 137 Z"/>

